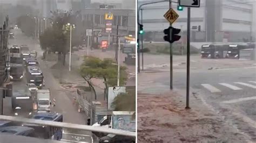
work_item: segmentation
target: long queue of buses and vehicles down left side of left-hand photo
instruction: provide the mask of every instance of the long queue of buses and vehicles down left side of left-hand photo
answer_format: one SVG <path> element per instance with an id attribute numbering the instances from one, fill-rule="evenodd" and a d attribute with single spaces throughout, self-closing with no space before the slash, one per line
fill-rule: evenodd
<path id="1" fill-rule="evenodd" d="M 37 52 L 29 51 L 27 45 L 12 45 L 8 50 L 8 73 L 11 81 L 22 81 L 25 77 L 25 87 L 13 91 L 11 106 L 14 116 L 63 121 L 63 115 L 50 111 L 50 91 L 42 89 L 44 85 L 43 73 L 36 59 Z M 23 135 L 42 139 L 62 139 L 63 128 L 55 126 L 41 126 L 0 120 L 0 133 Z"/>

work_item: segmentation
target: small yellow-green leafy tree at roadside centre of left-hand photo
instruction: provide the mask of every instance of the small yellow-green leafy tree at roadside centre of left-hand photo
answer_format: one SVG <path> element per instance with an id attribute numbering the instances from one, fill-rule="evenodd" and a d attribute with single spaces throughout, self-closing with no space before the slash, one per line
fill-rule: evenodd
<path id="1" fill-rule="evenodd" d="M 127 80 L 125 70 L 125 67 L 120 66 L 120 86 L 124 85 Z M 85 56 L 84 62 L 80 66 L 80 75 L 92 88 L 95 99 L 97 99 L 97 95 L 91 80 L 92 78 L 103 78 L 105 84 L 104 96 L 107 97 L 108 87 L 117 85 L 117 64 L 112 59 L 100 60 L 92 56 Z"/>

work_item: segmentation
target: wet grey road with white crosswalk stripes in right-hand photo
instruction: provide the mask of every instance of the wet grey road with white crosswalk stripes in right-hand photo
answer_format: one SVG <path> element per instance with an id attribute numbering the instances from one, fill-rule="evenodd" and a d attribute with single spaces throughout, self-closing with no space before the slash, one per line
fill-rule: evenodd
<path id="1" fill-rule="evenodd" d="M 151 58 L 155 59 L 153 56 Z M 256 141 L 256 67 L 253 61 L 200 58 L 192 60 L 196 62 L 191 63 L 194 68 L 190 74 L 190 98 L 201 97 L 203 102 L 224 116 L 226 121 Z M 167 64 L 166 61 L 164 63 Z M 161 71 L 159 68 L 152 69 L 155 73 L 138 74 L 138 92 L 161 94 L 170 91 L 169 68 L 163 67 Z M 173 69 L 173 87 L 174 90 L 186 90 L 185 66 L 176 66 Z M 193 105 L 190 106 L 193 108 Z"/>

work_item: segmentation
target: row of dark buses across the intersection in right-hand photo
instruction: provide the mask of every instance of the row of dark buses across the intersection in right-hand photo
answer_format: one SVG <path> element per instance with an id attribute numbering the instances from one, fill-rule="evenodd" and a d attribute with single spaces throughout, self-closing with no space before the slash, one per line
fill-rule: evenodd
<path id="1" fill-rule="evenodd" d="M 201 58 L 239 59 L 241 49 L 254 49 L 255 43 L 246 44 L 210 44 L 201 46 Z"/>

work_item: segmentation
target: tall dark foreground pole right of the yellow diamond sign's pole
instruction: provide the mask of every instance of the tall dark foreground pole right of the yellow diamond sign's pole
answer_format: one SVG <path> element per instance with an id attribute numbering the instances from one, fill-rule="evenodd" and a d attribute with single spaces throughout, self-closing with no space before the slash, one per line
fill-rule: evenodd
<path id="1" fill-rule="evenodd" d="M 186 109 L 190 109 L 190 7 L 187 8 L 187 92 Z"/>

